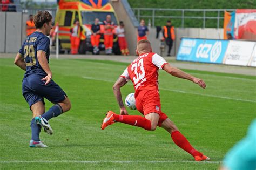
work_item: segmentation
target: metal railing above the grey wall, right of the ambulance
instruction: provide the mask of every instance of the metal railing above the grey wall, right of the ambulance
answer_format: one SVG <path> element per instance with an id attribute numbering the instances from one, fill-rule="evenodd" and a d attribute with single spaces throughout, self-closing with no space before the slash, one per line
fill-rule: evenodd
<path id="1" fill-rule="evenodd" d="M 152 19 L 152 26 L 155 25 L 156 18 L 165 18 L 165 19 L 181 19 L 181 27 L 184 28 L 184 22 L 185 19 L 203 19 L 203 28 L 206 27 L 206 19 L 215 19 L 217 20 L 216 27 L 220 27 L 220 20 L 224 19 L 224 16 L 220 16 L 220 12 L 226 11 L 235 11 L 235 9 L 163 9 L 163 8 L 133 8 L 134 15 L 137 17 L 138 21 L 140 21 L 141 18 L 149 18 Z M 152 15 L 148 15 L 150 13 Z M 156 12 L 159 13 L 168 13 L 168 12 L 177 12 L 180 13 L 180 15 L 157 15 Z M 192 12 L 203 12 L 202 16 L 186 16 L 186 12 L 192 13 Z M 215 12 L 217 13 L 216 16 L 207 16 L 207 13 Z M 142 15 L 142 13 L 146 13 L 146 15 Z"/>

